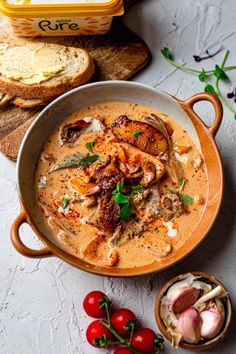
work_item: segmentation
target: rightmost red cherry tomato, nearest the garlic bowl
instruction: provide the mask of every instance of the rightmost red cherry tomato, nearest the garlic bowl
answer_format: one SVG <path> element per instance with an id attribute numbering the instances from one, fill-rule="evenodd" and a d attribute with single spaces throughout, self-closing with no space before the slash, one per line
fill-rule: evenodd
<path id="1" fill-rule="evenodd" d="M 140 328 L 133 336 L 132 346 L 142 354 L 155 353 L 156 334 L 150 328 Z"/>

